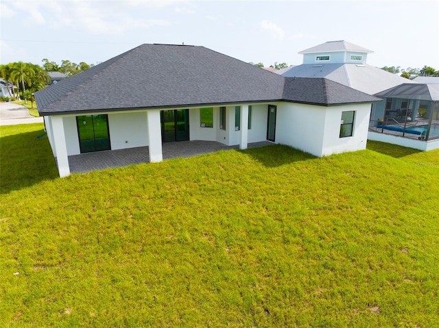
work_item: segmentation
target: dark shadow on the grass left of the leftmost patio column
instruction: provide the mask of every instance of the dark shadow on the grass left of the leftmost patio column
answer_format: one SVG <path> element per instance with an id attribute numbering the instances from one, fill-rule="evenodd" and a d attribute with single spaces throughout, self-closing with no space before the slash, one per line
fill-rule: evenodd
<path id="1" fill-rule="evenodd" d="M 58 177 L 54 155 L 43 129 L 3 136 L 0 149 L 0 194 Z"/>

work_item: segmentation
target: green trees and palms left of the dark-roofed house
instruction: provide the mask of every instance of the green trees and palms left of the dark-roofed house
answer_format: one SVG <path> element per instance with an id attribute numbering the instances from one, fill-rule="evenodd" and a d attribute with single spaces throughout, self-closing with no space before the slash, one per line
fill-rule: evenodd
<path id="1" fill-rule="evenodd" d="M 10 62 L 0 65 L 1 78 L 5 80 L 7 86 L 12 86 L 7 88 L 11 99 L 23 98 L 27 102 L 34 92 L 50 84 L 49 72 L 60 72 L 69 77 L 94 66 L 86 62 L 75 64 L 69 60 L 62 60 L 59 65 L 56 62 L 49 62 L 47 58 L 42 62 L 43 66 L 30 62 Z"/>

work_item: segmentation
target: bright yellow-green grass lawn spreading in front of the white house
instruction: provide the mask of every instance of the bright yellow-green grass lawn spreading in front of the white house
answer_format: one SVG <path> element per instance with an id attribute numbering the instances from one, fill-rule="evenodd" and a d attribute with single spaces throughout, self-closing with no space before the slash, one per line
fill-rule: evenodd
<path id="1" fill-rule="evenodd" d="M 29 169 L 27 149 L 46 154 L 37 125 L 3 128 L 16 171 Z M 38 180 L 1 197 L 0 325 L 434 327 L 439 151 L 368 144 L 62 179 L 47 153 Z"/>

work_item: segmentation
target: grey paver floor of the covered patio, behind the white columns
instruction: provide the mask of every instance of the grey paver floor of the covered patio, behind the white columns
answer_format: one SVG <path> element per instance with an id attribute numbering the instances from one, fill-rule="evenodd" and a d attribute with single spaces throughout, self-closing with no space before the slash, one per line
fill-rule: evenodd
<path id="1" fill-rule="evenodd" d="M 272 142 L 253 142 L 248 144 L 248 148 L 263 147 L 269 144 L 272 144 Z M 164 142 L 162 145 L 163 160 L 169 160 L 175 157 L 191 157 L 228 149 L 239 149 L 239 145 L 226 146 L 221 142 L 202 140 Z M 86 173 L 104 170 L 105 168 L 116 168 L 149 162 L 150 155 L 148 147 L 97 151 L 69 156 L 71 173 Z"/>

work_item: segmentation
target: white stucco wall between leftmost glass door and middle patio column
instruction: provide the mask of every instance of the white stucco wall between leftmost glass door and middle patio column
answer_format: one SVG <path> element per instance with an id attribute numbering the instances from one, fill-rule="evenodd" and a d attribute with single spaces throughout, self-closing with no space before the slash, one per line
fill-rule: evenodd
<path id="1" fill-rule="evenodd" d="M 146 112 L 110 113 L 108 126 L 112 150 L 148 145 Z"/>

